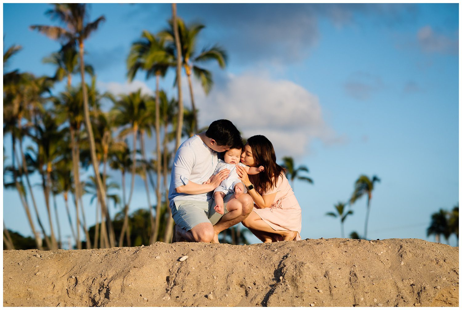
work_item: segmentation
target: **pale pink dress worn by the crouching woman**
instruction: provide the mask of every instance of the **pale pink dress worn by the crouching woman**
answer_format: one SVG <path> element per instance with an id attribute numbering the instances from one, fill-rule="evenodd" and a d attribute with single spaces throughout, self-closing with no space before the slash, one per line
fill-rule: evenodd
<path id="1" fill-rule="evenodd" d="M 258 176 L 249 177 L 252 181 L 252 178 Z M 274 193 L 276 193 L 276 197 L 271 207 L 259 209 L 254 205 L 253 211 L 276 231 L 298 231 L 295 240 L 301 240 L 302 209 L 284 173 L 278 178 L 278 182 L 276 182 L 274 188 L 263 191 L 260 195 L 270 195 Z"/>

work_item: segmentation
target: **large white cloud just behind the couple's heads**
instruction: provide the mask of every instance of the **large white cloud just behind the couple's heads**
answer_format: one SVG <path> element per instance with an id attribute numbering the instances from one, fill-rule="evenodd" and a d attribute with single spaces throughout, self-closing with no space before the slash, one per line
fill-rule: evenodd
<path id="1" fill-rule="evenodd" d="M 291 81 L 255 73 L 228 75 L 207 97 L 197 82 L 193 87 L 201 126 L 220 118 L 229 119 L 244 138 L 266 136 L 278 156 L 301 156 L 309 152 L 310 141 L 315 138 L 325 144 L 343 139 L 324 122 L 319 99 Z"/>

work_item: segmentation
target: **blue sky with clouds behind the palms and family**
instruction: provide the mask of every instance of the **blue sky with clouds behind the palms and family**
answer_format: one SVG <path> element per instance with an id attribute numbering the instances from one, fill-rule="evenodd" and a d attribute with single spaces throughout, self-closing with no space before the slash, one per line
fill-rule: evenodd
<path id="1" fill-rule="evenodd" d="M 56 24 L 44 14 L 48 8 L 3 5 L 4 50 L 13 44 L 23 48 L 7 70 L 54 73 L 42 59 L 59 43 L 28 28 Z M 170 4 L 91 4 L 90 12 L 91 20 L 106 18 L 85 43 L 85 62 L 95 68 L 98 87 L 115 94 L 139 88 L 153 93 L 154 79 L 142 73 L 128 83 L 125 61 L 143 30 L 167 27 Z M 244 138 L 267 136 L 279 162 L 292 156 L 296 166 L 309 168 L 305 175 L 314 184 L 292 184 L 302 208 L 302 238 L 340 237 L 339 220 L 325 214 L 348 201 L 354 182 L 365 174 L 380 178 L 372 193 L 368 239 L 435 241 L 426 236 L 431 214 L 459 201 L 457 3 L 178 4 L 177 14 L 206 26 L 198 52 L 218 44 L 228 53 L 225 69 L 204 65 L 213 72 L 208 95 L 193 80 L 199 127 L 229 119 Z M 161 81 L 169 96 L 176 96 L 173 75 Z M 185 76 L 182 81 L 184 104 L 190 107 Z M 62 89 L 63 83 L 55 92 Z M 10 155 L 9 135 L 4 147 Z M 154 149 L 154 140 L 147 148 Z M 120 179 L 119 172 L 110 174 Z M 40 187 L 34 191 L 43 200 Z M 93 225 L 95 205 L 90 197 L 84 201 L 87 225 Z M 66 223 L 61 197 L 57 203 L 60 222 Z M 31 235 L 15 190 L 3 191 L 3 207 L 7 228 Z M 130 211 L 141 207 L 146 194 L 137 177 Z M 46 214 L 44 201 L 39 209 Z M 351 209 L 346 237 L 364 233 L 366 199 Z M 63 236 L 70 235 L 66 226 L 61 224 Z M 451 237 L 450 244 L 456 243 Z"/>

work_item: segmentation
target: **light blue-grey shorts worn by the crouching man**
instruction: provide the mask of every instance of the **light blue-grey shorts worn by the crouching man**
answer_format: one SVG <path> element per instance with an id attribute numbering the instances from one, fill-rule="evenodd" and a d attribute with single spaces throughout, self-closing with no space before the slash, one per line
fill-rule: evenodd
<path id="1" fill-rule="evenodd" d="M 228 194 L 223 199 L 225 202 L 225 214 L 229 212 L 226 205 L 233 194 Z M 215 207 L 213 198 L 208 201 L 176 200 L 171 207 L 172 218 L 175 220 L 176 225 L 186 229 L 186 231 L 201 223 L 215 225 L 224 214 L 217 213 L 213 207 Z"/>

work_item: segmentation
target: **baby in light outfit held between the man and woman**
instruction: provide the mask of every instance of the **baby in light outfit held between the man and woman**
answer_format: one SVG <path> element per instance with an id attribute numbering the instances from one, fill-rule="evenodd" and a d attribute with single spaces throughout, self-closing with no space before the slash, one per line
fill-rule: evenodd
<path id="1" fill-rule="evenodd" d="M 230 174 L 229 176 L 223 180 L 220 185 L 215 188 L 213 191 L 213 198 L 215 198 L 215 203 L 216 206 L 214 207 L 215 211 L 220 214 L 225 213 L 225 208 L 224 208 L 224 201 L 223 198 L 225 198 L 226 194 L 234 192 L 234 195 L 236 198 L 238 198 L 240 195 L 243 193 L 247 193 L 247 189 L 245 188 L 243 182 L 239 180 L 239 176 L 237 175 L 236 172 L 236 165 L 241 165 L 244 170 L 247 172 L 249 175 L 254 175 L 258 174 L 261 171 L 265 170 L 263 166 L 260 167 L 249 167 L 246 166 L 242 163 L 241 161 L 241 152 L 243 150 L 243 146 L 239 146 L 236 148 L 232 148 L 228 151 L 225 152 L 224 160 L 220 159 L 217 168 L 215 169 L 215 172 L 213 173 L 213 176 L 215 176 L 220 170 L 223 169 L 229 169 Z M 207 183 L 210 182 L 213 178 L 213 176 L 208 179 Z"/>

